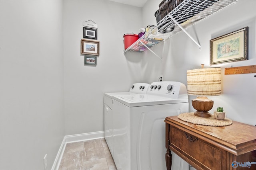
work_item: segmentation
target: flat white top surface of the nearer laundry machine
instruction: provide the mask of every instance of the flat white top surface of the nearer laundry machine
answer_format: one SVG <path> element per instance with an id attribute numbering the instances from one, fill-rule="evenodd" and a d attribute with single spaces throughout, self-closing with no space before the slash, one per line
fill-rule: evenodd
<path id="1" fill-rule="evenodd" d="M 128 107 L 153 106 L 188 102 L 188 99 L 172 99 L 150 94 L 117 95 L 113 96 L 113 99 Z"/>

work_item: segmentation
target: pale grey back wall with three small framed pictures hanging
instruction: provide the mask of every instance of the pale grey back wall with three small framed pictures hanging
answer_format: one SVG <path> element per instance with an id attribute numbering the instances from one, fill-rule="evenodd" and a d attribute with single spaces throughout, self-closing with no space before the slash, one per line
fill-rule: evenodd
<path id="1" fill-rule="evenodd" d="M 141 56 L 124 55 L 124 33 L 138 33 L 142 8 L 108 0 L 64 1 L 65 134 L 104 130 L 104 92 L 128 91 L 141 81 Z M 83 21 L 98 24 L 100 56 L 84 65 Z"/>

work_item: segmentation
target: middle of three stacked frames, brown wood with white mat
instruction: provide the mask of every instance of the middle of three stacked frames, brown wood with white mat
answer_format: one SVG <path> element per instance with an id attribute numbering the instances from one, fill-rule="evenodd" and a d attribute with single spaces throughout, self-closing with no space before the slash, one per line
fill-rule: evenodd
<path id="1" fill-rule="evenodd" d="M 100 55 L 100 42 L 81 39 L 81 54 Z"/>

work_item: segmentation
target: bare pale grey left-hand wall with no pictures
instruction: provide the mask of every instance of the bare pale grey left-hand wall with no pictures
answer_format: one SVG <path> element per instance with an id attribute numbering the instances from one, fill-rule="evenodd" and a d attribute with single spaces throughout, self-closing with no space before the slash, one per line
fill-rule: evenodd
<path id="1" fill-rule="evenodd" d="M 0 169 L 49 170 L 64 138 L 62 1 L 0 0 Z"/>

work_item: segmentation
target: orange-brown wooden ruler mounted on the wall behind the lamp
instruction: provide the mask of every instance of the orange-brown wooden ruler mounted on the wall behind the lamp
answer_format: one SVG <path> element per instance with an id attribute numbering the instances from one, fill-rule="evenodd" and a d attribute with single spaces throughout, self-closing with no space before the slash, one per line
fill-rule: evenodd
<path id="1" fill-rule="evenodd" d="M 256 73 L 256 65 L 225 68 L 225 75 Z"/>

